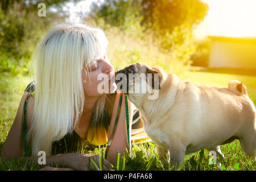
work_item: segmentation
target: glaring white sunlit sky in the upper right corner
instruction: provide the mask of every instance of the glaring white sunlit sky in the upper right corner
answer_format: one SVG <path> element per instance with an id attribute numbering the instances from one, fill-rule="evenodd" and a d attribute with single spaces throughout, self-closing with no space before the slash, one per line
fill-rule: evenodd
<path id="1" fill-rule="evenodd" d="M 203 0 L 209 11 L 194 31 L 196 38 L 205 36 L 256 36 L 255 0 Z"/>

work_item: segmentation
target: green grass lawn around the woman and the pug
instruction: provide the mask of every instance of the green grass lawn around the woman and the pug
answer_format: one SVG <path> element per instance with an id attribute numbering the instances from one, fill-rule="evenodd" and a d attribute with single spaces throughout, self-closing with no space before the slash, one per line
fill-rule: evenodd
<path id="1" fill-rule="evenodd" d="M 247 86 L 249 96 L 256 103 L 256 76 L 239 75 L 222 72 L 188 72 L 184 80 L 192 81 L 197 85 L 227 87 L 229 80 L 240 80 Z M 10 127 L 14 121 L 16 110 L 18 109 L 23 90 L 29 83 L 28 77 L 18 76 L 9 77 L 1 75 L 0 77 L 0 149 L 7 137 Z M 184 164 L 180 170 L 254 170 L 256 162 L 245 155 L 241 149 L 238 140 L 221 146 L 225 159 L 221 156 L 217 159 L 216 165 L 209 165 L 209 151 L 202 150 L 191 155 L 186 155 Z M 105 146 L 96 147 L 94 150 L 88 150 L 80 147 L 77 153 L 98 154 L 102 158 L 105 153 Z M 153 142 L 134 144 L 130 154 L 125 155 L 125 159 L 118 158 L 118 164 L 114 164 L 115 170 L 170 170 L 167 163 L 161 163 L 158 160 L 157 150 Z M 0 170 L 37 170 L 41 166 L 29 166 L 25 159 L 13 159 L 8 162 L 0 163 Z M 102 169 L 97 166 L 96 169 Z"/>

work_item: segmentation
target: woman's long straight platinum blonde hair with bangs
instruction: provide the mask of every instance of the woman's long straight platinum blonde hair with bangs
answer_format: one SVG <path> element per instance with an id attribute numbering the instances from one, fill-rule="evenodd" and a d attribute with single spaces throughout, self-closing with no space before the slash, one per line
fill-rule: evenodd
<path id="1" fill-rule="evenodd" d="M 39 42 L 31 67 L 36 84 L 28 131 L 32 156 L 41 150 L 51 155 L 52 142 L 72 132 L 84 107 L 84 65 L 102 56 L 107 46 L 104 32 L 85 24 L 59 24 Z M 102 115 L 104 105 L 105 96 L 101 96 L 96 116 Z"/>

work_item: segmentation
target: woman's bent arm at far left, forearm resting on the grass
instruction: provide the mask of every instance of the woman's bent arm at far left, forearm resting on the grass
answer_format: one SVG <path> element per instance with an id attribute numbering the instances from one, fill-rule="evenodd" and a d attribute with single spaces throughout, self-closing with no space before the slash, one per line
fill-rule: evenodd
<path id="1" fill-rule="evenodd" d="M 22 156 L 22 152 L 20 151 L 20 134 L 22 127 L 22 113 L 23 113 L 23 105 L 24 100 L 27 96 L 28 92 L 24 92 L 22 99 L 20 100 L 20 104 L 18 107 L 18 111 L 16 113 L 16 117 L 14 119 L 13 125 L 7 135 L 5 144 L 3 146 L 3 150 L 1 151 L 1 161 L 3 160 L 11 160 L 14 158 L 25 158 L 29 160 L 29 163 L 38 164 L 38 158 L 40 156 L 32 157 L 32 156 Z M 34 98 L 28 98 L 27 102 L 27 130 L 31 127 L 31 119 L 32 112 L 34 109 Z M 93 159 L 96 164 L 99 164 L 99 156 L 98 155 L 89 155 L 89 154 L 59 154 L 46 156 L 46 164 L 48 166 L 62 166 L 70 167 L 76 170 L 85 170 L 88 169 L 89 160 Z M 93 168 L 93 163 L 90 162 L 90 167 Z M 111 168 L 111 167 L 110 167 Z M 104 169 L 109 169 L 109 163 L 104 160 Z"/>

